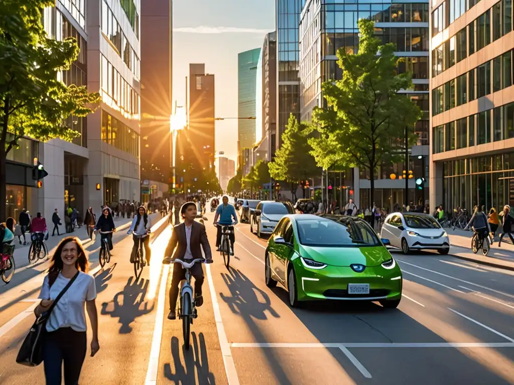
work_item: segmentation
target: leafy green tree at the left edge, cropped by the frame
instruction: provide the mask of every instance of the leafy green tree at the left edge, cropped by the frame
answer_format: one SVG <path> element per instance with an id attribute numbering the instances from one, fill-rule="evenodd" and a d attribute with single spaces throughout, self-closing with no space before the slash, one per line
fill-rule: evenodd
<path id="1" fill-rule="evenodd" d="M 74 38 L 56 41 L 42 24 L 53 0 L 0 2 L 0 219 L 6 218 L 6 157 L 20 138 L 39 141 L 80 135 L 67 118 L 85 117 L 99 101 L 86 87 L 66 86 L 58 73 L 70 68 L 79 47 Z"/>

